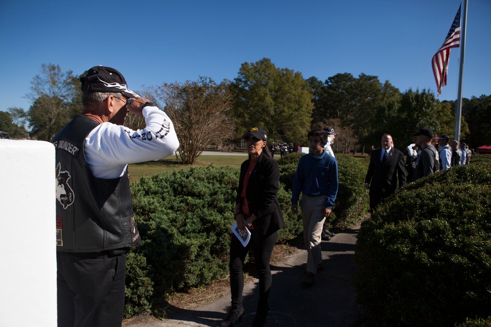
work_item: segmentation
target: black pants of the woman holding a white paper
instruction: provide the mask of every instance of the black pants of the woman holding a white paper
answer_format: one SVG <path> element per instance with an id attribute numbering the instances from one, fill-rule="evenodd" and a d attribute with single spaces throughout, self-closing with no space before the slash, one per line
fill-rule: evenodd
<path id="1" fill-rule="evenodd" d="M 270 260 L 273 253 L 274 243 L 278 233 L 271 235 L 258 235 L 251 230 L 250 241 L 246 247 L 242 246 L 235 235 L 230 242 L 230 292 L 232 297 L 232 308 L 238 309 L 242 306 L 242 292 L 244 290 L 244 259 L 250 247 L 254 251 L 254 261 L 259 278 L 259 305 L 268 305 L 268 297 L 271 289 Z"/>

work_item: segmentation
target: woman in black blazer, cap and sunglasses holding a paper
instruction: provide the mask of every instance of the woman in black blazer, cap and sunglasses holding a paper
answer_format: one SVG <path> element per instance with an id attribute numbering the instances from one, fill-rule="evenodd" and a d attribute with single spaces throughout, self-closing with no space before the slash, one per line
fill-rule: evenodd
<path id="1" fill-rule="evenodd" d="M 270 260 L 278 236 L 285 226 L 277 199 L 279 167 L 266 147 L 267 134 L 261 127 L 253 127 L 243 135 L 249 159 L 241 166 L 235 219 L 239 229 L 249 229 L 250 241 L 244 247 L 232 235 L 230 243 L 230 291 L 232 308 L 220 327 L 234 326 L 245 313 L 242 306 L 244 274 L 242 267 L 250 247 L 254 251 L 259 278 L 259 302 L 252 326 L 263 326 L 269 311 L 268 296 L 271 289 Z"/>

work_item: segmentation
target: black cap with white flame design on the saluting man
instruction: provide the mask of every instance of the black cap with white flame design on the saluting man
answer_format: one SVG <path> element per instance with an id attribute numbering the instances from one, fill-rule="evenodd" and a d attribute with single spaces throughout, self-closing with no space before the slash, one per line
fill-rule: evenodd
<path id="1" fill-rule="evenodd" d="M 114 68 L 95 66 L 80 77 L 82 91 L 103 92 L 103 93 L 122 93 L 129 98 L 139 98 L 140 96 L 128 88 L 126 79 Z"/>

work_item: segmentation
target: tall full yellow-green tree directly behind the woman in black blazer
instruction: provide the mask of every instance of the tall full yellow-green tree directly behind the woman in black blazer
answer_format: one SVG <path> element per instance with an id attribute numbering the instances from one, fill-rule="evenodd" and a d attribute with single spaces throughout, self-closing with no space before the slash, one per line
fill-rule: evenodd
<path id="1" fill-rule="evenodd" d="M 263 58 L 242 64 L 230 89 L 239 134 L 259 126 L 268 131 L 271 141 L 305 141 L 313 104 L 310 86 L 301 73 L 276 68 L 270 59 Z"/>

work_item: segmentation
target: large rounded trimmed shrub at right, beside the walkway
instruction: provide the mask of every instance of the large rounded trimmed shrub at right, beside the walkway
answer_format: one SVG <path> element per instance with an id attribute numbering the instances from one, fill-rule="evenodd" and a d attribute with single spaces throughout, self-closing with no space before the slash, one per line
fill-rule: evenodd
<path id="1" fill-rule="evenodd" d="M 362 223 L 357 301 L 380 326 L 453 326 L 491 310 L 490 166 L 410 183 Z"/>

